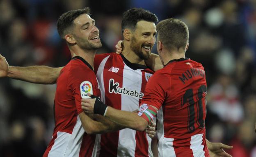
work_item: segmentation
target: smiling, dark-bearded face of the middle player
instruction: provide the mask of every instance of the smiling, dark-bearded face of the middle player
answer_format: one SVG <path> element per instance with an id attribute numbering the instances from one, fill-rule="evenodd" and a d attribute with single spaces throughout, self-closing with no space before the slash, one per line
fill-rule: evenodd
<path id="1" fill-rule="evenodd" d="M 140 59 L 147 60 L 155 44 L 156 33 L 154 22 L 144 20 L 137 22 L 135 30 L 132 33 L 130 49 L 134 51 Z"/>

